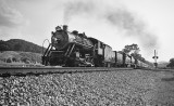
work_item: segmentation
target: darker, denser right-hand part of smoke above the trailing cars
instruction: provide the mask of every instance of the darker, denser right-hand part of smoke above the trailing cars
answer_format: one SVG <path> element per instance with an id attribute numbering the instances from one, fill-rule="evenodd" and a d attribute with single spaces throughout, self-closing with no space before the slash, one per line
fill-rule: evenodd
<path id="1" fill-rule="evenodd" d="M 135 17 L 133 13 L 124 9 L 110 11 L 104 17 L 111 25 L 126 31 L 126 37 L 134 37 L 139 40 L 146 49 L 158 48 L 157 36 L 149 32 L 145 23 Z"/>

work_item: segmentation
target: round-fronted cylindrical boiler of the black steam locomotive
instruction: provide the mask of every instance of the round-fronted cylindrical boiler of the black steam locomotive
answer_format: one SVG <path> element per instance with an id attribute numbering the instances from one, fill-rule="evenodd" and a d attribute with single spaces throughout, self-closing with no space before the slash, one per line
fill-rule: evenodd
<path id="1" fill-rule="evenodd" d="M 63 26 L 63 29 L 61 29 L 60 26 L 55 28 L 55 31 L 52 32 L 51 42 L 55 50 L 63 50 L 71 44 L 79 45 L 85 50 L 94 47 L 91 41 L 87 39 L 85 32 L 78 34 L 76 30 L 70 32 L 67 31 L 66 25 Z"/>

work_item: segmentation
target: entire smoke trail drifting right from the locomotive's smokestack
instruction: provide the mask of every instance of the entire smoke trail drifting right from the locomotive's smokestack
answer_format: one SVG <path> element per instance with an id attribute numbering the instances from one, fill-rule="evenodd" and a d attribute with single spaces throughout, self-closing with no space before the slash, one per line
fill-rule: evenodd
<path id="1" fill-rule="evenodd" d="M 157 36 L 149 32 L 146 25 L 125 8 L 109 5 L 96 0 L 75 0 L 66 2 L 64 8 L 64 22 L 67 24 L 73 16 L 90 16 L 96 21 L 104 21 L 107 24 L 125 31 L 125 37 L 138 39 L 141 45 L 149 50 L 158 48 Z"/>

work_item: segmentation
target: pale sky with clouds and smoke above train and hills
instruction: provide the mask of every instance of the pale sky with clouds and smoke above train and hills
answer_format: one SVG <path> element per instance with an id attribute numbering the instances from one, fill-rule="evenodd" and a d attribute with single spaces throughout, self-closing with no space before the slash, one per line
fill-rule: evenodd
<path id="1" fill-rule="evenodd" d="M 64 24 L 114 51 L 136 43 L 147 61 L 154 50 L 159 62 L 174 57 L 174 0 L 0 0 L 0 40 L 42 45 Z"/>

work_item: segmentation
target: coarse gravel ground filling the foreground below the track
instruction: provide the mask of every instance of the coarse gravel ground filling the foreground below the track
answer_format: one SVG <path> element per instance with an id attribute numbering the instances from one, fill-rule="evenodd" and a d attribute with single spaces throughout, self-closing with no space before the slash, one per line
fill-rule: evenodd
<path id="1" fill-rule="evenodd" d="M 174 71 L 135 69 L 0 78 L 0 105 L 174 106 Z"/>

